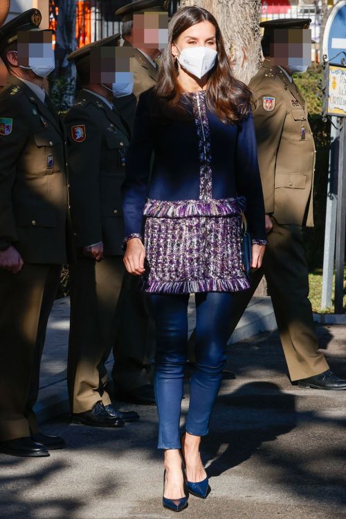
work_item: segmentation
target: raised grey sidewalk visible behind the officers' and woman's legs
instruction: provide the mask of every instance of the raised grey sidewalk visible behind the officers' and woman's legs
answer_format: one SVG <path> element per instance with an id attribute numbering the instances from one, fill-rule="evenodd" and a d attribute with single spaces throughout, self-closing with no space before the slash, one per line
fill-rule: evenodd
<path id="1" fill-rule="evenodd" d="M 41 423 L 67 412 L 69 408 L 66 388 L 69 316 L 69 298 L 55 301 L 48 322 L 46 344 L 42 356 L 39 399 L 35 406 L 35 411 Z M 194 302 L 192 298 L 189 306 L 189 325 L 191 333 L 194 327 Z M 268 297 L 253 298 L 230 342 L 251 337 L 259 331 L 268 331 L 275 328 L 276 321 L 271 299 Z M 112 363 L 113 357 L 111 356 L 108 362 L 109 367 Z"/>

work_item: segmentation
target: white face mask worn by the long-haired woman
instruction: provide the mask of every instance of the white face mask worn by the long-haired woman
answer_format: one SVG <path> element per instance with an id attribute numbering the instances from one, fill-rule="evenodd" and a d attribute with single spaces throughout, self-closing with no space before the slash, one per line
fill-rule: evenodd
<path id="1" fill-rule="evenodd" d="M 180 51 L 178 46 L 176 48 Z M 201 79 L 215 65 L 217 51 L 208 47 L 186 47 L 180 51 L 178 59 L 184 69 Z"/>

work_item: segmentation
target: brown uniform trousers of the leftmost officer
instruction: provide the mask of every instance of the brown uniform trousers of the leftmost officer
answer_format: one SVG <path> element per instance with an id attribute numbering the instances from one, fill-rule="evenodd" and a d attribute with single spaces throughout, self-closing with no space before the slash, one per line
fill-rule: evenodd
<path id="1" fill-rule="evenodd" d="M 18 274 L 0 270 L 1 441 L 38 432 L 33 406 L 60 269 L 58 265 L 24 263 Z"/>

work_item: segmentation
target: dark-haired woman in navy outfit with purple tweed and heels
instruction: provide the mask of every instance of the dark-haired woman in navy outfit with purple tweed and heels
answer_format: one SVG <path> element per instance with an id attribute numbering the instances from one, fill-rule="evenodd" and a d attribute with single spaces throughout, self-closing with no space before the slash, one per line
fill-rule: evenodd
<path id="1" fill-rule="evenodd" d="M 141 277 L 156 323 L 163 506 L 174 511 L 187 506 L 187 493 L 206 498 L 210 491 L 199 444 L 221 383 L 234 293 L 249 287 L 242 268 L 243 212 L 253 237 L 253 268 L 261 266 L 266 244 L 251 100 L 251 91 L 233 78 L 210 12 L 176 12 L 158 82 L 140 95 L 123 185 L 124 262 Z M 196 361 L 180 437 L 190 293 Z"/>

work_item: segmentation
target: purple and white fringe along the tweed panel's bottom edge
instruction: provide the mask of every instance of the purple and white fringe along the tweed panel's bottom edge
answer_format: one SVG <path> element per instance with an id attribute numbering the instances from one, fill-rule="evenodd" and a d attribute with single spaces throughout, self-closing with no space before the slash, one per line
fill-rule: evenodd
<path id="1" fill-rule="evenodd" d="M 199 292 L 240 292 L 250 288 L 246 277 L 237 277 L 228 280 L 193 280 L 163 282 L 145 280 L 143 290 L 148 293 L 199 293 Z"/>

